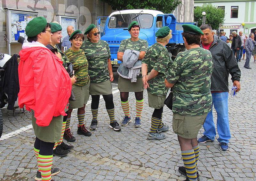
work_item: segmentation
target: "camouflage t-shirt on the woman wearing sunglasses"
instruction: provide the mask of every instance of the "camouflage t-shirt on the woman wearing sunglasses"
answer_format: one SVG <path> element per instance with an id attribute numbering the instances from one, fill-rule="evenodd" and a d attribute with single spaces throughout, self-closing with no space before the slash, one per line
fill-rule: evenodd
<path id="1" fill-rule="evenodd" d="M 111 57 L 108 43 L 99 40 L 92 43 L 89 40 L 83 42 L 81 49 L 84 50 L 88 60 L 88 74 L 93 83 L 105 82 L 109 80 L 108 58 Z"/>

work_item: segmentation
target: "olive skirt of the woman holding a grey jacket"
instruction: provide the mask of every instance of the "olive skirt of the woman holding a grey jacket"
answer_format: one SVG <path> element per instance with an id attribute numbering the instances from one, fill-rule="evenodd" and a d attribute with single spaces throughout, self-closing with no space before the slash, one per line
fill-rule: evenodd
<path id="1" fill-rule="evenodd" d="M 131 82 L 130 79 L 119 76 L 118 89 L 120 92 L 142 92 L 144 90 L 142 77 L 137 77 L 137 82 Z"/>

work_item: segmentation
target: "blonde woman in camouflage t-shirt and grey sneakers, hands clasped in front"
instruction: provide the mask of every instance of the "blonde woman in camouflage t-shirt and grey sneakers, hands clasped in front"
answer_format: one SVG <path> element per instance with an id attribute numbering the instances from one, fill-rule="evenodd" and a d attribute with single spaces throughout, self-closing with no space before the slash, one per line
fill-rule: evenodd
<path id="1" fill-rule="evenodd" d="M 154 108 L 148 140 L 166 138 L 161 132 L 169 129 L 168 125 L 164 125 L 162 119 L 164 100 L 168 92 L 168 88 L 164 85 L 164 79 L 167 76 L 168 67 L 172 63 L 165 45 L 172 38 L 172 30 L 168 26 L 164 26 L 156 32 L 156 37 L 156 43 L 148 49 L 141 67 L 143 85 L 148 91 L 148 106 Z"/>

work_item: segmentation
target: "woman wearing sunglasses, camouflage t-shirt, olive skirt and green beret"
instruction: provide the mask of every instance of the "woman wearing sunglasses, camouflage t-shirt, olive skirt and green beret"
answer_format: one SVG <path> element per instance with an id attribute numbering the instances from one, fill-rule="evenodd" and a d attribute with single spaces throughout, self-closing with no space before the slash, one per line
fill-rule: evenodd
<path id="1" fill-rule="evenodd" d="M 88 60 L 88 74 L 91 80 L 89 94 L 92 96 L 92 123 L 90 130 L 97 130 L 100 95 L 102 95 L 110 119 L 109 127 L 120 131 L 121 127 L 115 120 L 115 105 L 111 86 L 114 77 L 108 43 L 100 40 L 100 32 L 94 24 L 88 26 L 84 34 L 87 35 L 88 40 L 83 42 L 81 49 L 84 50 Z"/>

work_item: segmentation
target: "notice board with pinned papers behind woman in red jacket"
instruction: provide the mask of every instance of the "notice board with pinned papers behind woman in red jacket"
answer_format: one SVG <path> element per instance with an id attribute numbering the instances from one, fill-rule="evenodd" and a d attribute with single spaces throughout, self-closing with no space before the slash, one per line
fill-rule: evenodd
<path id="1" fill-rule="evenodd" d="M 29 21 L 38 16 L 37 12 L 19 11 L 8 9 L 8 37 L 9 42 L 17 42 L 20 36 L 25 38 L 27 41 L 27 35 L 25 34 L 25 28 Z"/>

